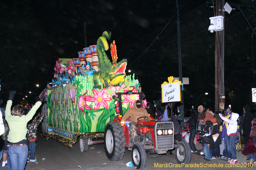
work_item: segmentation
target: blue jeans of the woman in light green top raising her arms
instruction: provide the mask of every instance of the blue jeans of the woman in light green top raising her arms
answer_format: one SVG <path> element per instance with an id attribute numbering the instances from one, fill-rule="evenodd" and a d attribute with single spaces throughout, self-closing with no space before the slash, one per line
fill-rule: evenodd
<path id="1" fill-rule="evenodd" d="M 24 170 L 28 158 L 28 146 L 9 145 L 8 155 L 10 157 L 12 170 Z"/>

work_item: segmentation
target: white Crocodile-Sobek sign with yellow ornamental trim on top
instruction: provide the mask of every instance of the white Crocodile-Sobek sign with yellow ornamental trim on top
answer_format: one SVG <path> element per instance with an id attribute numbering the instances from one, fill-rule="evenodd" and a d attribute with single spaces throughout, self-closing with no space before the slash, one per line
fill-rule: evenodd
<path id="1" fill-rule="evenodd" d="M 170 78 L 173 78 L 173 77 L 170 77 Z M 171 82 L 169 80 L 168 84 L 166 84 L 167 82 L 162 84 L 162 103 L 181 101 L 181 97 L 180 97 L 181 82 L 178 80 L 175 80 L 174 82 L 172 82 L 172 80 Z"/>

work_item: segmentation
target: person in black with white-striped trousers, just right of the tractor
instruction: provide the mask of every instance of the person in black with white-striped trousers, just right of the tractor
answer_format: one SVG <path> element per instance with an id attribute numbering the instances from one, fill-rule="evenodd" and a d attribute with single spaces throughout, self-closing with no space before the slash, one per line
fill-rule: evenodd
<path id="1" fill-rule="evenodd" d="M 190 108 L 190 115 L 191 116 L 188 120 L 188 128 L 190 131 L 189 146 L 190 146 L 191 152 L 193 153 L 193 152 L 197 152 L 197 149 L 194 144 L 194 140 L 196 137 L 196 123 L 197 123 L 197 119 L 198 119 L 197 112 L 193 106 Z"/>

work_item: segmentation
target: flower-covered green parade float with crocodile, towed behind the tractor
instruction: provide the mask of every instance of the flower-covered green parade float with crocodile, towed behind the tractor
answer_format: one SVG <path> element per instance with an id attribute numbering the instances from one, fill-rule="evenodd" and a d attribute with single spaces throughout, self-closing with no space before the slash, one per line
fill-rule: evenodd
<path id="1" fill-rule="evenodd" d="M 42 112 L 45 113 L 42 137 L 52 137 L 68 148 L 79 139 L 81 151 L 87 151 L 88 145 L 103 142 L 94 140 L 103 137 L 106 124 L 118 116 L 118 108 L 112 96 L 116 92 L 127 92 L 129 86 L 134 86 L 133 93 L 140 92 L 140 83 L 135 80 L 134 74 L 125 74 L 127 60 L 116 62 L 115 41 L 110 45 L 112 63 L 106 55 L 110 35 L 105 31 L 97 45 L 78 52 L 79 58 L 56 61 L 56 82 L 64 72 L 73 81 L 70 79 L 67 83 L 65 80 L 63 84 L 55 85 L 53 90 L 47 89 L 47 102 L 42 107 Z M 81 73 L 78 72 L 84 63 L 92 66 L 93 73 L 89 70 L 83 72 L 82 69 Z M 72 75 L 67 75 L 68 69 L 72 70 Z M 65 74 L 62 78 L 65 78 Z M 133 102 L 138 99 L 142 100 L 138 94 L 122 95 L 122 113 L 132 108 Z M 143 107 L 146 104 L 145 99 Z"/>

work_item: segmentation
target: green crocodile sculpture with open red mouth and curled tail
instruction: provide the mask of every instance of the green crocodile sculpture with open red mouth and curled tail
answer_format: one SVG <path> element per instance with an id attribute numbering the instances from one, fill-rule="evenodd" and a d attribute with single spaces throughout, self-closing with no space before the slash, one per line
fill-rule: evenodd
<path id="1" fill-rule="evenodd" d="M 111 36 L 111 32 L 108 34 L 107 31 L 102 33 L 102 36 L 97 41 L 97 55 L 100 64 L 100 70 L 94 71 L 93 74 L 93 88 L 101 89 L 99 85 L 98 78 L 104 84 L 104 87 L 109 87 L 110 85 L 117 85 L 119 82 L 124 81 L 124 76 L 126 75 L 125 69 L 127 65 L 127 59 L 121 60 L 119 63 L 111 63 L 108 59 L 105 51 L 108 50 L 108 42 Z M 110 84 L 110 85 L 109 85 Z"/>

